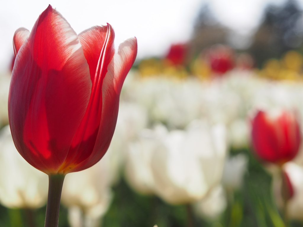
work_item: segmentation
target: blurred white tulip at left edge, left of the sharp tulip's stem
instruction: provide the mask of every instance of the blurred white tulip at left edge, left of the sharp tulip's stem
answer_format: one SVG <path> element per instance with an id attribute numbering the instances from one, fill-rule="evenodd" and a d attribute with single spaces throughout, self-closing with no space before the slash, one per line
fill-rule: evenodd
<path id="1" fill-rule="evenodd" d="M 18 153 L 9 126 L 0 133 L 0 203 L 9 208 L 44 206 L 48 176 L 28 164 Z"/>

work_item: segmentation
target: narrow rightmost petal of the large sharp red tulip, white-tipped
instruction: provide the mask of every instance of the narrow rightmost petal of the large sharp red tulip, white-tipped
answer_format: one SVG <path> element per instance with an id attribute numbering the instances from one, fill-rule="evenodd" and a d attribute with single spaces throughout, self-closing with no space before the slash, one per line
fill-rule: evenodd
<path id="1" fill-rule="evenodd" d="M 75 166 L 71 172 L 94 165 L 106 153 L 115 131 L 121 88 L 136 56 L 137 39 L 130 38 L 120 44 L 118 53 L 108 65 L 108 72 L 102 86 L 102 117 L 94 150 L 85 161 Z"/>

